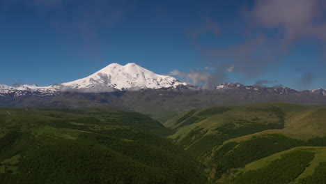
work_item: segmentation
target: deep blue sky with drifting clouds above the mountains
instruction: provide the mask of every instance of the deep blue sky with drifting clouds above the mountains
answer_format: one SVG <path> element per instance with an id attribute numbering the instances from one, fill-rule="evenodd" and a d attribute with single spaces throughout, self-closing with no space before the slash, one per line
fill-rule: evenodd
<path id="1" fill-rule="evenodd" d="M 325 8 L 322 0 L 0 0 L 0 84 L 45 86 L 133 62 L 185 80 L 211 74 L 201 83 L 325 88 Z"/>

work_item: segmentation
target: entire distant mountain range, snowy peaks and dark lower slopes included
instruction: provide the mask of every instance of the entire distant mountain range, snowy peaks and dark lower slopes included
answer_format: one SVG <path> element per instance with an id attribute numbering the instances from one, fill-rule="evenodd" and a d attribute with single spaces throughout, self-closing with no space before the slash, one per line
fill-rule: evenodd
<path id="1" fill-rule="evenodd" d="M 109 66 L 88 77 L 52 86 L 0 84 L 0 107 L 110 105 L 146 114 L 167 114 L 210 105 L 252 102 L 292 102 L 326 104 L 326 90 L 296 91 L 288 87 L 217 84 L 214 89 L 180 82 L 175 77 L 157 75 L 135 63 Z"/>

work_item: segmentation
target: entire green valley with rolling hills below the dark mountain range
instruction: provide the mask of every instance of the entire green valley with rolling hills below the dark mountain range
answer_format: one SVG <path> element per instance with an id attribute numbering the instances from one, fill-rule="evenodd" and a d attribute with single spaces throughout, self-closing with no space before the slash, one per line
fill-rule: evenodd
<path id="1" fill-rule="evenodd" d="M 111 107 L 2 108 L 0 181 L 323 181 L 325 110 L 284 102 L 224 105 L 160 123 Z"/>

